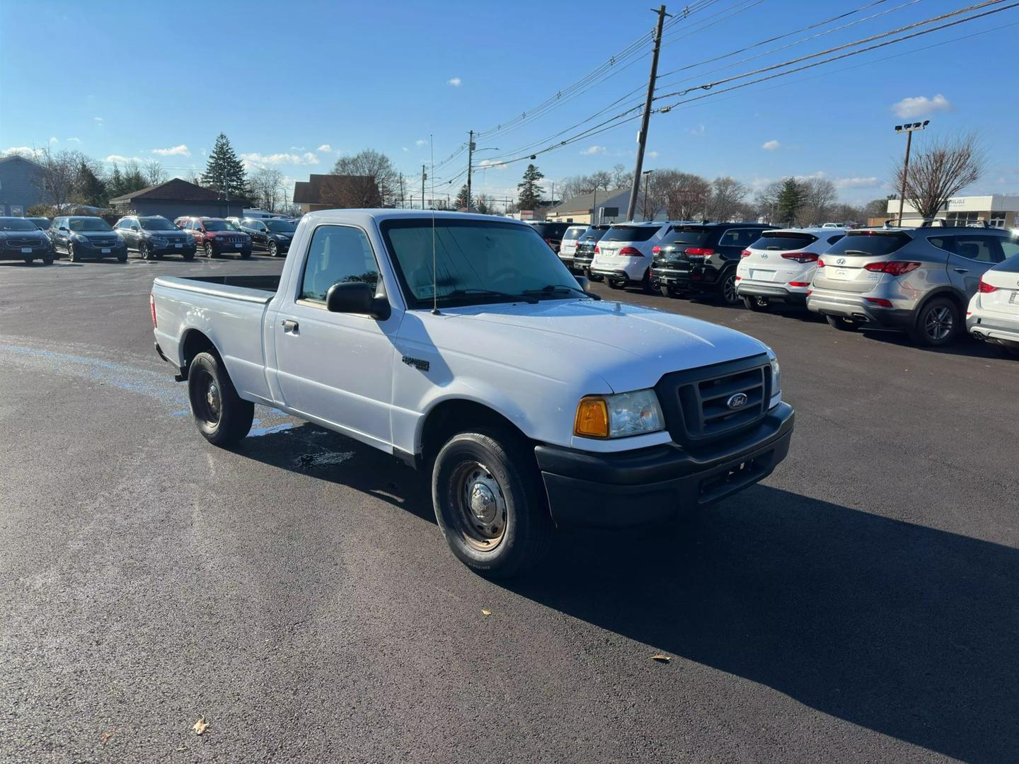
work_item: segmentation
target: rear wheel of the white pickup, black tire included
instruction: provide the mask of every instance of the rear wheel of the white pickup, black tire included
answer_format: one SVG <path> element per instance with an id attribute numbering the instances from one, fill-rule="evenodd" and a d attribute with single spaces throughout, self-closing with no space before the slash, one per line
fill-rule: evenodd
<path id="1" fill-rule="evenodd" d="M 187 397 L 198 431 L 213 445 L 232 445 L 252 429 L 255 404 L 237 395 L 226 368 L 211 352 L 192 361 Z"/>

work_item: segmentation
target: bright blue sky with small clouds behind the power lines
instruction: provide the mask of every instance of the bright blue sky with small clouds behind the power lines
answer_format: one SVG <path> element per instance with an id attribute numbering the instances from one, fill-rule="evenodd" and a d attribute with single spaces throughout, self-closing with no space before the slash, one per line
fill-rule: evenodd
<path id="1" fill-rule="evenodd" d="M 666 30 L 659 71 L 865 4 L 719 0 Z M 666 87 L 658 92 L 807 55 L 964 4 L 888 0 L 810 33 L 662 77 Z M 204 153 L 223 131 L 251 167 L 277 167 L 291 180 L 327 172 L 340 153 L 370 147 L 386 153 L 420 188 L 431 135 L 436 194 L 455 194 L 466 157 L 441 161 L 467 140 L 468 129 L 490 130 L 533 110 L 624 51 L 650 31 L 654 15 L 648 6 L 619 0 L 4 2 L 0 151 L 50 143 L 103 160 L 156 158 L 172 174 L 187 175 L 204 167 Z M 709 73 L 886 10 L 879 18 Z M 1019 194 L 1016 24 L 1019 9 L 1008 10 L 656 114 L 645 167 L 733 175 L 755 187 L 786 175 L 821 174 L 839 185 L 844 199 L 861 202 L 889 192 L 886 181 L 905 140 L 893 125 L 930 119 L 917 142 L 980 131 L 989 161 L 971 192 Z M 483 135 L 479 149 L 499 151 L 479 153 L 476 160 L 521 156 L 516 149 L 577 124 L 633 91 L 636 95 L 562 138 L 640 101 L 649 50 L 644 44 L 640 57 L 624 58 L 604 72 L 611 76 L 532 115 L 532 121 Z M 667 87 L 683 77 L 690 79 Z M 637 126 L 629 122 L 591 135 L 535 163 L 547 183 L 615 163 L 632 167 Z M 526 164 L 482 169 L 474 176 L 475 187 L 509 194 Z"/>

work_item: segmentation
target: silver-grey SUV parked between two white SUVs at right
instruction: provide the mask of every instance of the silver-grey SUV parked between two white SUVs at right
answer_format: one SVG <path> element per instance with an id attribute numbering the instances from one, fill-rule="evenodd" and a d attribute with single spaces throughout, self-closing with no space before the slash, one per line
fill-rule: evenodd
<path id="1" fill-rule="evenodd" d="M 807 308 L 844 331 L 901 329 L 940 346 L 965 330 L 980 276 L 1005 260 L 996 228 L 865 228 L 849 231 L 817 261 Z"/>

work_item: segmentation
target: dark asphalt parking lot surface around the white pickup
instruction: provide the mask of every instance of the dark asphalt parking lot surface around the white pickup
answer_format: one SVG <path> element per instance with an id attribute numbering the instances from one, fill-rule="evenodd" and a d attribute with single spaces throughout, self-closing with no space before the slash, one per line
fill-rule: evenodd
<path id="1" fill-rule="evenodd" d="M 281 265 L 0 264 L 0 760 L 1015 758 L 1019 363 L 596 285 L 770 344 L 792 450 L 495 584 L 392 457 L 196 432 L 152 279 Z"/>

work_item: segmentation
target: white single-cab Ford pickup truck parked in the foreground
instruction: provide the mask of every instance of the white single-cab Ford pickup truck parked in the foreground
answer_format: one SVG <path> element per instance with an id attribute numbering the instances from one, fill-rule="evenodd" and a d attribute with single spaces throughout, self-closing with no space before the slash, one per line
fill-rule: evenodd
<path id="1" fill-rule="evenodd" d="M 278 278 L 160 277 L 151 303 L 211 443 L 262 403 L 431 470 L 449 547 L 495 577 L 556 527 L 675 519 L 789 450 L 766 345 L 585 286 L 526 223 L 331 210 Z"/>

